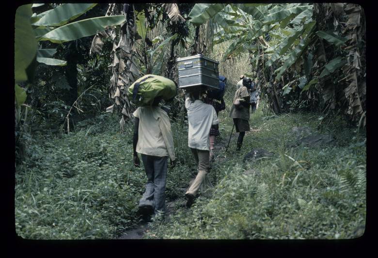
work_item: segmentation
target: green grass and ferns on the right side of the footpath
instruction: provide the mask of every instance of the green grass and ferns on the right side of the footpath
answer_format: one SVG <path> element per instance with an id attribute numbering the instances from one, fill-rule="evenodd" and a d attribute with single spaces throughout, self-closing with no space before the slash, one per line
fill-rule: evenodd
<path id="1" fill-rule="evenodd" d="M 316 131 L 316 114 L 264 117 L 250 120 L 242 153 L 254 148 L 274 156 L 243 164 L 232 142 L 227 159 L 211 173 L 220 175 L 210 197 L 199 197 L 190 209 L 178 210 L 169 223 L 155 223 L 146 238 L 164 239 L 346 239 L 365 225 L 366 147 L 357 135 L 334 121 L 318 133 L 336 140 L 328 147 L 288 148 L 294 126 Z M 223 135 L 231 131 L 227 112 Z M 339 124 L 337 124 L 339 123 Z M 245 175 L 253 168 L 259 175 Z"/>

